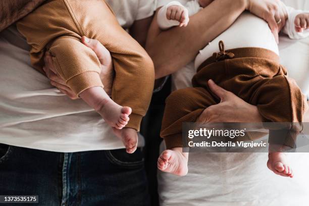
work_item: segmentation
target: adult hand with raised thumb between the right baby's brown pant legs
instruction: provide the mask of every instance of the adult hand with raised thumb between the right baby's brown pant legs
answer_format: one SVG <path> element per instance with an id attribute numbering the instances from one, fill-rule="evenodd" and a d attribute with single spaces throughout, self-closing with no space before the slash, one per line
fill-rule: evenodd
<path id="1" fill-rule="evenodd" d="M 197 118 L 198 123 L 263 122 L 256 106 L 250 105 L 234 93 L 209 80 L 210 89 L 221 99 L 220 103 L 205 109 Z"/>

